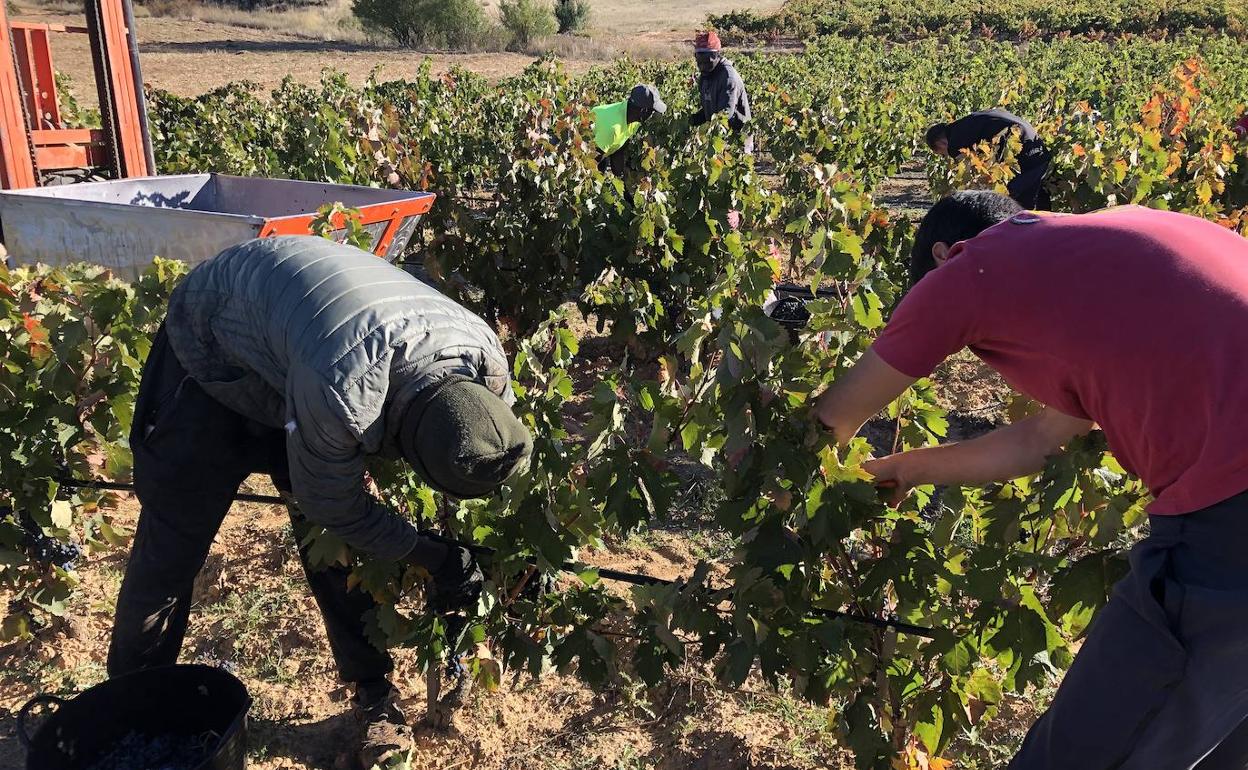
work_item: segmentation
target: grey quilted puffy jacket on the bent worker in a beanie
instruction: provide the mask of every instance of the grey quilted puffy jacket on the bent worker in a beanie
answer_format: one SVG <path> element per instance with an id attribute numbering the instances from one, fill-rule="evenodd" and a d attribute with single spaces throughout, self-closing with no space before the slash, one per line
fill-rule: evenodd
<path id="1" fill-rule="evenodd" d="M 310 520 L 399 559 L 416 529 L 364 492 L 364 458 L 398 457 L 403 409 L 449 374 L 514 401 L 489 326 L 371 253 L 311 236 L 248 241 L 196 267 L 165 321 L 178 361 L 226 407 L 285 428 Z"/>

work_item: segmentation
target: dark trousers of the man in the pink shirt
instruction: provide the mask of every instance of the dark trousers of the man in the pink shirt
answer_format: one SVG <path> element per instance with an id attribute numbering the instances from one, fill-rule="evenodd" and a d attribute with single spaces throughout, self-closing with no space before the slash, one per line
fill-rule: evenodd
<path id="1" fill-rule="evenodd" d="M 1248 768 L 1248 492 L 1149 527 L 1010 770 Z"/>

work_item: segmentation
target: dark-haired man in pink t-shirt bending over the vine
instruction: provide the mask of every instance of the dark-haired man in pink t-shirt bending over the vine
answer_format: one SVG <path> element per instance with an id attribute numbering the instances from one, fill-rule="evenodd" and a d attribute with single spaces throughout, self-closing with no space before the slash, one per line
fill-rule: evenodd
<path id="1" fill-rule="evenodd" d="M 1248 241 L 1124 206 L 1036 215 L 958 192 L 924 218 L 911 288 L 819 399 L 841 442 L 970 348 L 1043 404 L 866 469 L 921 484 L 1036 473 L 1093 426 L 1148 485 L 1149 534 L 1010 770 L 1248 766 Z"/>

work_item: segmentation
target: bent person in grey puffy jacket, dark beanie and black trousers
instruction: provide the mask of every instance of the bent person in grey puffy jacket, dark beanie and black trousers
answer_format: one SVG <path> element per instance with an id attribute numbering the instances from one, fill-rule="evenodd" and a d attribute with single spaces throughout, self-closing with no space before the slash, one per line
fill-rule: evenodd
<path id="1" fill-rule="evenodd" d="M 291 503 L 300 557 L 343 680 L 356 685 L 371 766 L 409 734 L 374 607 L 346 567 L 318 569 L 323 527 L 432 575 L 431 608 L 475 602 L 482 574 L 364 490 L 369 456 L 402 458 L 458 498 L 493 492 L 528 458 L 507 357 L 478 317 L 402 270 L 317 237 L 250 241 L 173 291 L 144 366 L 130 443 L 142 510 L 117 599 L 109 674 L 177 660 L 191 587 L 238 485 L 267 473 Z"/>

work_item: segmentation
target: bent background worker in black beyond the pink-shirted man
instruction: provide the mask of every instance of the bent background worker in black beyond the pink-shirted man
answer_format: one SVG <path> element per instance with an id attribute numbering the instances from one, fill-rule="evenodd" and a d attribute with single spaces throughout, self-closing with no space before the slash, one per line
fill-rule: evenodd
<path id="1" fill-rule="evenodd" d="M 992 141 L 1011 129 L 1018 129 L 1022 151 L 1018 154 L 1018 173 L 1007 185 L 1010 197 L 1023 208 L 1048 211 L 1051 202 L 1045 190 L 1045 175 L 1052 156 L 1036 129 L 1023 119 L 1002 109 L 972 112 L 951 124 L 936 124 L 927 129 L 927 146 L 945 157 L 957 156 L 985 141 Z M 1005 151 L 1005 137 L 1001 149 Z"/>

